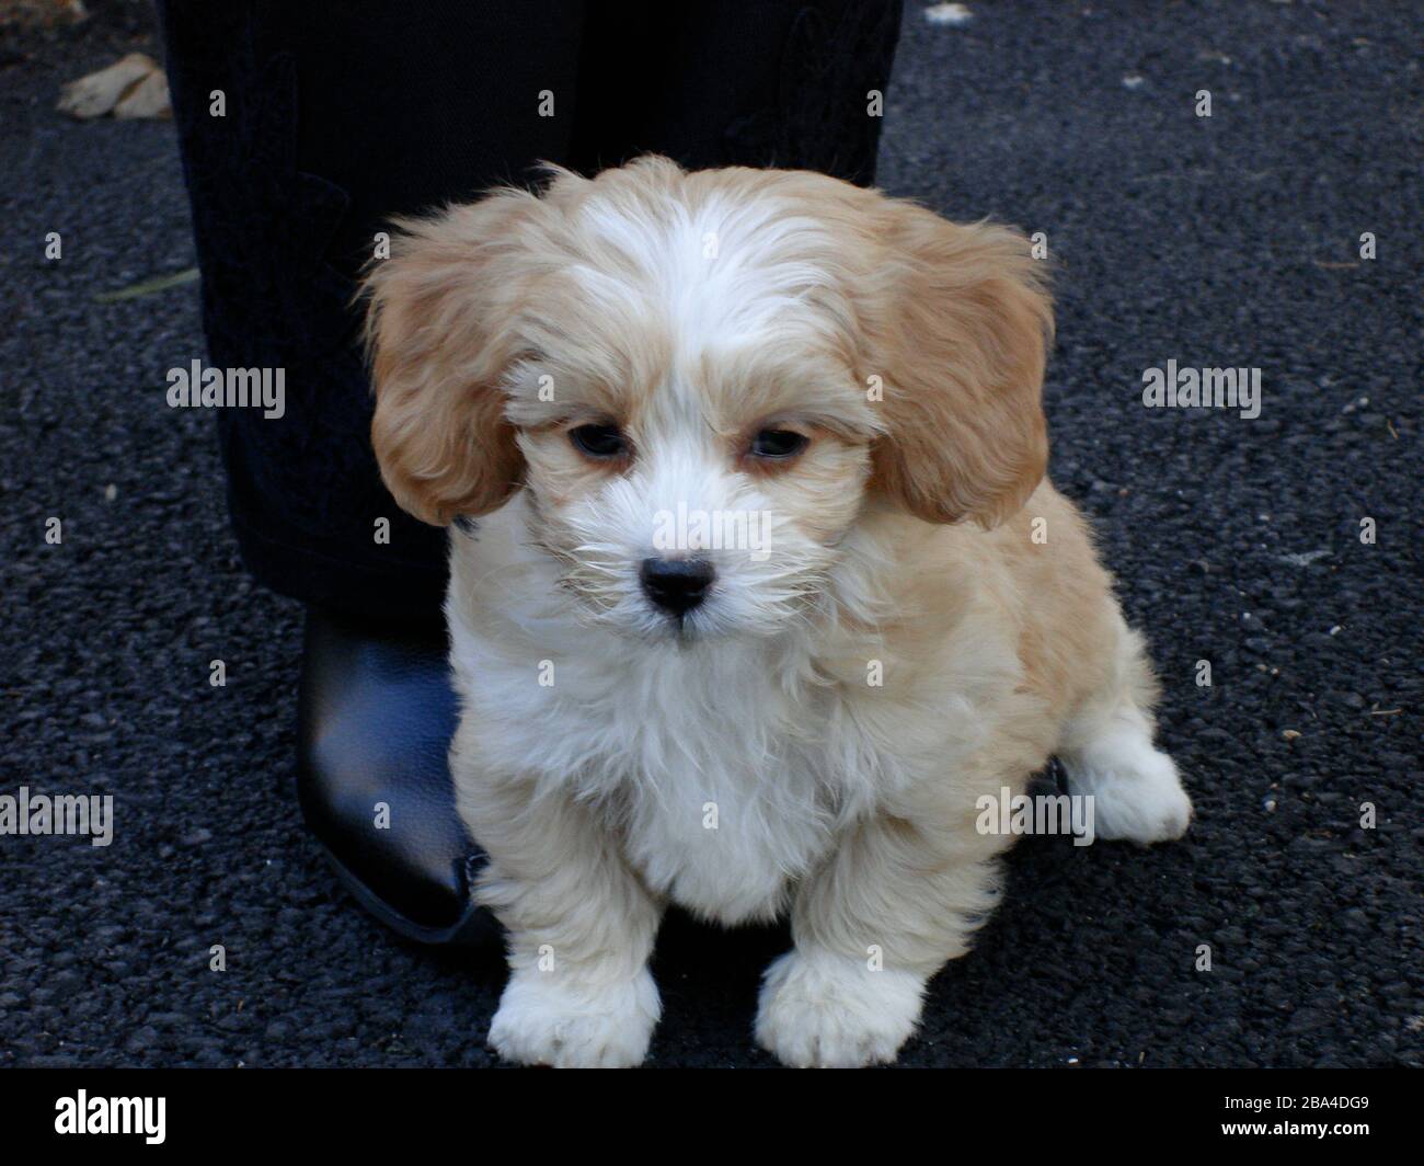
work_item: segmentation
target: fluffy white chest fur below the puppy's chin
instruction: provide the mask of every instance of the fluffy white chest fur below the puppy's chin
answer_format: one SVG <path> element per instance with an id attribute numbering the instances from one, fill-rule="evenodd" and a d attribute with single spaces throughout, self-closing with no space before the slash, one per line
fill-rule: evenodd
<path id="1" fill-rule="evenodd" d="M 866 798 L 836 757 L 837 693 L 785 686 L 795 664 L 766 646 L 582 631 L 533 661 L 468 629 L 456 644 L 484 755 L 594 805 L 649 888 L 698 914 L 775 915 Z"/>

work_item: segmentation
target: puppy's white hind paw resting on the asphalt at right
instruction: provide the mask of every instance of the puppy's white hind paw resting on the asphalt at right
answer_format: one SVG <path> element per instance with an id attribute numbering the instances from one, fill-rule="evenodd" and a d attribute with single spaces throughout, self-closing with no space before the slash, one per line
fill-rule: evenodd
<path id="1" fill-rule="evenodd" d="M 1075 794 L 1092 795 L 1098 838 L 1165 842 L 1180 838 L 1192 821 L 1192 800 L 1176 764 L 1138 738 L 1104 743 L 1078 761 L 1064 761 Z"/>

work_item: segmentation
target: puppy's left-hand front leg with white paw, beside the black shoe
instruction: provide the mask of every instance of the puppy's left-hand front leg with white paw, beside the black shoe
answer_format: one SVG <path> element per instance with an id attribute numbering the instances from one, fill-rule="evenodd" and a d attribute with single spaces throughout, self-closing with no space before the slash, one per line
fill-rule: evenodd
<path id="1" fill-rule="evenodd" d="M 460 810 L 490 855 L 477 898 L 508 928 L 491 1048 L 521 1065 L 641 1063 L 661 1012 L 648 972 L 661 904 L 585 805 L 463 781 Z"/>

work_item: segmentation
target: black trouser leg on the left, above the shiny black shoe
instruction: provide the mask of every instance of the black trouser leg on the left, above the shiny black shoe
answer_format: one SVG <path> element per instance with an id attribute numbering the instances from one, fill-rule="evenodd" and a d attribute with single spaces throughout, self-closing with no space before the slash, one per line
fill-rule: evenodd
<path id="1" fill-rule="evenodd" d="M 577 90 L 582 10 L 162 4 L 209 359 L 285 369 L 285 416 L 218 422 L 238 542 L 268 586 L 357 614 L 439 613 L 444 533 L 400 512 L 372 455 L 355 277 L 392 215 L 567 160 L 572 110 L 543 118 L 537 94 Z"/>

